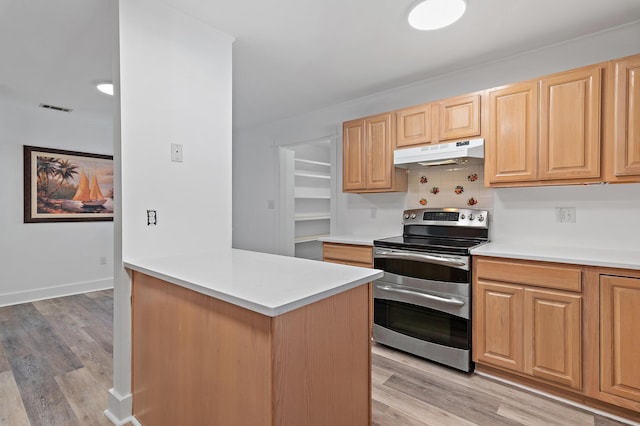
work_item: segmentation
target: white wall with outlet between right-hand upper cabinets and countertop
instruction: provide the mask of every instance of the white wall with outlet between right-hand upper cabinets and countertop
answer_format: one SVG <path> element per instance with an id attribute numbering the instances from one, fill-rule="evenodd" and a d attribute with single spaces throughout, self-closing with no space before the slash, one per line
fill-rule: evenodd
<path id="1" fill-rule="evenodd" d="M 640 184 L 495 190 L 492 240 L 526 244 L 638 250 Z M 575 207 L 560 223 L 556 207 Z"/>

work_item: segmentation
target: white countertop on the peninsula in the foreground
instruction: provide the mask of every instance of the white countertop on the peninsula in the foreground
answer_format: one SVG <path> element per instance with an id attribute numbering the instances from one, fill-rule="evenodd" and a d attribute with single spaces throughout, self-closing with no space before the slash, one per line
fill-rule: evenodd
<path id="1" fill-rule="evenodd" d="M 377 269 L 231 248 L 124 266 L 271 317 L 382 276 Z"/>

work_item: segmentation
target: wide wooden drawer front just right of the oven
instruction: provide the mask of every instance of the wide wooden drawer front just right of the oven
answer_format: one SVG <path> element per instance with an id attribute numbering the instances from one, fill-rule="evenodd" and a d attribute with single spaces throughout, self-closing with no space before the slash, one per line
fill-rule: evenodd
<path id="1" fill-rule="evenodd" d="M 476 274 L 478 278 L 493 281 L 582 291 L 582 268 L 579 266 L 511 259 L 478 259 Z"/>

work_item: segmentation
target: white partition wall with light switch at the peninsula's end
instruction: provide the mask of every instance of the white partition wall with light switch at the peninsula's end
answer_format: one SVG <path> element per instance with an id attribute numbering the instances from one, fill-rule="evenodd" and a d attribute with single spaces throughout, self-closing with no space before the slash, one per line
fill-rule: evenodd
<path id="1" fill-rule="evenodd" d="M 233 39 L 153 0 L 118 5 L 116 253 L 125 260 L 231 246 Z M 184 161 L 170 161 L 170 144 Z M 147 226 L 146 210 L 157 211 Z M 131 415 L 131 283 L 114 290 L 114 386 L 105 414 Z"/>

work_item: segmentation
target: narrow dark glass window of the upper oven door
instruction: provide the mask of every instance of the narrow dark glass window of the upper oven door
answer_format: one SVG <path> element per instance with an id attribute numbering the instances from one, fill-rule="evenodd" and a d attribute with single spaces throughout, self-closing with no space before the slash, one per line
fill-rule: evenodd
<path id="1" fill-rule="evenodd" d="M 452 268 L 451 266 L 416 262 L 415 260 L 376 258 L 374 259 L 374 267 L 386 272 L 391 272 L 392 274 L 423 280 L 450 283 L 471 282 L 470 271 Z"/>

